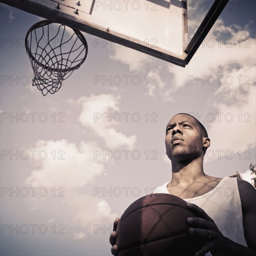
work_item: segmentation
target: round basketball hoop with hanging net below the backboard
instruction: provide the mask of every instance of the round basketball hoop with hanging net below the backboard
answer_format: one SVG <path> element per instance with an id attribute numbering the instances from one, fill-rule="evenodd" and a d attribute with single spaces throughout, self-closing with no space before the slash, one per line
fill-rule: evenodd
<path id="1" fill-rule="evenodd" d="M 32 85 L 44 96 L 57 92 L 62 81 L 87 57 L 87 41 L 79 30 L 71 29 L 72 35 L 67 26 L 43 20 L 27 32 L 25 46 L 34 73 Z"/>

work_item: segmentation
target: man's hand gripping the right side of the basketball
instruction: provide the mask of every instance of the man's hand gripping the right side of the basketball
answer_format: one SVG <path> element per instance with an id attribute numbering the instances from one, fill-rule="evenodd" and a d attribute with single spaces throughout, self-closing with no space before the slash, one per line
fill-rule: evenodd
<path id="1" fill-rule="evenodd" d="M 203 209 L 192 203 L 187 203 L 187 206 L 202 216 L 202 218 L 187 218 L 187 222 L 191 225 L 189 233 L 192 236 L 208 238 L 208 242 L 195 253 L 195 256 L 204 255 L 209 251 L 213 256 L 228 255 L 229 244 L 232 243 L 232 241 L 222 235 L 213 219 L 211 219 Z"/>

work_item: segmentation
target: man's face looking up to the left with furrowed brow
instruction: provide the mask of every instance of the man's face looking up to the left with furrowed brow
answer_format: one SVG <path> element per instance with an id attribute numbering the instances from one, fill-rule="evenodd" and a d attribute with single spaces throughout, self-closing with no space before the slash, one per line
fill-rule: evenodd
<path id="1" fill-rule="evenodd" d="M 166 127 L 166 154 L 170 160 L 193 160 L 203 155 L 203 137 L 196 120 L 189 115 L 175 115 Z"/>

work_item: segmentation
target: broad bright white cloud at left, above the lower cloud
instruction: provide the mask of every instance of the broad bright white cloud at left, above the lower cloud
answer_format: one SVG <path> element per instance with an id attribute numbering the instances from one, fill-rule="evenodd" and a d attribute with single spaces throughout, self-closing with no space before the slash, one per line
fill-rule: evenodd
<path id="1" fill-rule="evenodd" d="M 37 168 L 31 171 L 26 182 L 33 187 L 82 188 L 106 172 L 109 160 L 94 159 L 94 150 L 97 149 L 101 150 L 93 141 L 81 141 L 78 147 L 64 139 L 37 141 L 30 149 L 36 150 L 34 161 Z"/>

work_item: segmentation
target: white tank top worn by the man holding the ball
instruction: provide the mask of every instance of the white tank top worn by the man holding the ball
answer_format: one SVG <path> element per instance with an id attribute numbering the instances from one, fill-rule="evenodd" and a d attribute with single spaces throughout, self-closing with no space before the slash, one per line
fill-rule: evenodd
<path id="1" fill-rule="evenodd" d="M 168 183 L 166 182 L 161 187 L 156 188 L 153 193 L 169 194 Z M 188 188 L 188 193 L 194 192 L 193 190 L 195 188 Z M 203 195 L 183 200 L 202 208 L 214 220 L 223 236 L 248 247 L 243 233 L 242 204 L 237 178 L 224 177 L 215 189 L 209 192 L 199 192 Z M 212 254 L 209 252 L 205 256 L 212 256 Z"/>

